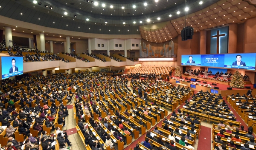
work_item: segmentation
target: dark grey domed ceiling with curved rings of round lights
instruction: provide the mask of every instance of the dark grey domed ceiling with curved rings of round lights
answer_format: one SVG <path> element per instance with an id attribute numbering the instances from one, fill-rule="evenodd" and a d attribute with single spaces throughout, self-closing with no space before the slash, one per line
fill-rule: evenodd
<path id="1" fill-rule="evenodd" d="M 185 15 L 185 0 L 93 0 L 94 3 L 87 3 L 86 0 L 36 1 L 42 4 L 35 4 L 33 0 L 0 0 L 0 15 L 50 28 L 95 34 L 140 34 L 139 25 L 160 23 Z M 200 5 L 201 1 L 203 3 Z M 187 0 L 188 13 L 217 1 Z M 98 6 L 95 6 L 96 2 Z M 49 9 L 50 6 L 52 9 Z M 170 14 L 172 17 L 169 17 Z M 147 19 L 151 21 L 147 22 Z"/>

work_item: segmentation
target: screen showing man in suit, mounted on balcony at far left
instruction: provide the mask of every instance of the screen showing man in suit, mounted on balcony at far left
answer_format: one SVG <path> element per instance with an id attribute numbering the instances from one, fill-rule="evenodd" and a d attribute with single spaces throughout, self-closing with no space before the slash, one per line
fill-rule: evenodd
<path id="1" fill-rule="evenodd" d="M 11 68 L 8 65 L 10 62 L 12 62 Z M 1 57 L 1 63 L 2 79 L 23 74 L 23 57 Z"/>

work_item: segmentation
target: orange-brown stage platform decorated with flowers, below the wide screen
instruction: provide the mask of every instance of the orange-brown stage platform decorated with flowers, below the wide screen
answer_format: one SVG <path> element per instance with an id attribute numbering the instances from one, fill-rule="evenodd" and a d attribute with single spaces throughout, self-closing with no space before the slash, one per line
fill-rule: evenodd
<path id="1" fill-rule="evenodd" d="M 213 80 L 211 80 L 211 82 L 210 81 L 208 81 L 208 80 L 206 80 L 206 79 L 202 79 L 202 78 L 194 78 L 194 77 L 192 77 L 192 76 L 181 76 L 181 77 L 178 77 L 178 76 L 172 76 L 172 78 L 177 78 L 177 80 L 175 80 L 175 79 L 170 79 L 169 80 L 169 82 L 171 82 L 172 84 L 174 84 L 174 85 L 177 85 L 176 84 L 176 81 L 179 81 L 180 83 L 182 83 L 182 84 L 186 84 L 186 85 L 188 85 L 188 87 L 190 87 L 191 88 L 191 85 L 195 85 L 195 84 L 192 84 L 192 81 L 190 81 L 190 82 L 188 82 L 189 81 L 189 79 L 191 79 L 191 78 L 193 78 L 193 79 L 198 79 L 198 81 L 201 81 L 201 82 L 199 82 L 202 86 L 200 86 L 200 85 L 195 85 L 195 88 L 191 88 L 191 89 L 195 89 L 195 90 L 197 90 L 197 91 L 201 91 L 201 90 L 203 90 L 203 91 L 211 91 L 211 89 L 214 89 L 214 87 L 218 87 L 219 89 L 214 89 L 215 91 L 218 91 L 218 93 L 220 93 L 222 96 L 225 96 L 226 94 L 227 95 L 231 95 L 232 93 L 240 93 L 240 95 L 241 94 L 243 94 L 243 93 L 247 93 L 247 91 L 249 90 L 249 89 L 247 89 L 247 88 L 244 88 L 244 89 L 240 89 L 240 88 L 233 88 L 232 90 L 227 90 L 227 88 L 229 88 L 230 87 L 230 85 L 227 85 L 227 83 L 228 82 L 217 82 L 217 81 L 213 81 Z M 180 81 L 180 79 L 184 79 L 184 81 Z M 185 79 L 185 78 L 187 78 L 187 79 Z M 203 82 L 207 82 L 207 83 L 203 83 Z M 216 85 L 212 85 L 212 83 L 215 83 Z M 226 83 L 226 84 L 225 84 Z M 204 87 L 203 85 L 210 85 L 210 86 L 212 86 L 212 88 L 208 88 L 208 87 Z M 245 84 L 244 85 L 245 87 L 247 86 L 247 87 L 250 87 L 250 89 L 253 89 L 253 85 L 252 84 Z M 253 90 L 252 91 L 252 93 L 253 94 L 256 94 L 256 89 L 255 90 Z"/>

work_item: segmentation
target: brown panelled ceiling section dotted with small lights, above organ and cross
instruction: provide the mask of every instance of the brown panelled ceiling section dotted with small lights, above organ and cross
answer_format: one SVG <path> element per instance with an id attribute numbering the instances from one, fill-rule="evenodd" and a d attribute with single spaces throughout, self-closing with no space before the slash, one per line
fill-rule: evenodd
<path id="1" fill-rule="evenodd" d="M 177 37 L 185 25 L 194 28 L 194 32 L 209 30 L 230 23 L 243 23 L 250 17 L 256 16 L 256 7 L 243 0 L 220 0 L 200 11 L 189 14 L 186 19 L 179 17 L 164 24 L 159 28 L 150 29 L 140 26 L 143 39 L 150 42 L 164 42 Z M 156 25 L 157 26 L 157 25 Z"/>

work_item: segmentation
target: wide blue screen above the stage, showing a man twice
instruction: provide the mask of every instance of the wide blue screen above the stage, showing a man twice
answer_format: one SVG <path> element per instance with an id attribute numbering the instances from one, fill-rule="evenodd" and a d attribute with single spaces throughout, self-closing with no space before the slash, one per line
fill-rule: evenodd
<path id="1" fill-rule="evenodd" d="M 255 70 L 256 53 L 182 55 L 181 65 Z"/>

